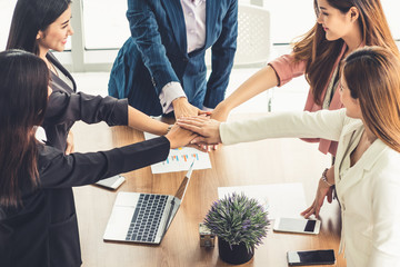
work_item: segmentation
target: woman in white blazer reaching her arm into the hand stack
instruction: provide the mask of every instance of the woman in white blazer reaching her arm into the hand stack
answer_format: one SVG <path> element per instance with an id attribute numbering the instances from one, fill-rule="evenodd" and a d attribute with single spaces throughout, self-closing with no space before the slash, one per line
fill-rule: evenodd
<path id="1" fill-rule="evenodd" d="M 400 266 L 400 62 L 389 50 L 367 47 L 349 55 L 341 69 L 346 109 L 286 112 L 257 120 L 218 122 L 181 119 L 200 134 L 197 142 L 231 145 L 277 137 L 339 141 L 333 184 L 341 204 L 348 266 Z"/>

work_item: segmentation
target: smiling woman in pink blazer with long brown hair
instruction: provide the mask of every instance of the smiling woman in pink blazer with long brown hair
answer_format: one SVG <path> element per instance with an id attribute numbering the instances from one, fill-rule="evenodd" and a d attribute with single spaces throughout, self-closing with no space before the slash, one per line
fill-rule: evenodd
<path id="1" fill-rule="evenodd" d="M 310 83 L 304 110 L 336 110 L 342 108 L 339 96 L 340 65 L 351 51 L 363 46 L 399 50 L 390 33 L 380 0 L 314 0 L 317 22 L 304 37 L 294 43 L 293 51 L 269 62 L 243 82 L 213 110 L 211 118 L 226 120 L 230 110 L 250 98 L 276 86 L 281 87 L 292 78 L 304 75 Z M 326 139 L 319 142 L 323 154 L 337 152 L 338 144 Z M 333 168 L 324 174 L 333 178 Z M 318 217 L 324 197 L 332 200 L 331 189 L 318 191 L 314 202 L 302 212 Z"/>

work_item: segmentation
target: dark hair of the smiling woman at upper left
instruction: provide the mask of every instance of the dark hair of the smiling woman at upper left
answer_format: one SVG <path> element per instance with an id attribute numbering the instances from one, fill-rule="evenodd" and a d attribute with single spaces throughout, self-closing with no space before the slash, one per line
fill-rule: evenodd
<path id="1" fill-rule="evenodd" d="M 39 56 L 37 34 L 46 31 L 71 0 L 18 0 L 6 49 L 22 49 Z"/>

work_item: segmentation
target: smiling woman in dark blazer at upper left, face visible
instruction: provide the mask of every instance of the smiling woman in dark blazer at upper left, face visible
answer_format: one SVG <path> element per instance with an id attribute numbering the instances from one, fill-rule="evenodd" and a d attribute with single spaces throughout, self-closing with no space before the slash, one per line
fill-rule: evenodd
<path id="1" fill-rule="evenodd" d="M 73 146 L 72 142 L 68 146 L 67 137 L 77 120 L 88 123 L 106 121 L 110 126 L 129 125 L 157 135 L 167 134 L 168 125 L 129 107 L 126 99 L 76 93 L 77 86 L 72 76 L 50 52 L 50 49 L 62 51 L 68 36 L 73 33 L 70 4 L 70 0 L 19 0 L 7 43 L 7 49 L 22 49 L 39 56 L 50 70 L 50 87 L 53 92 L 49 97 L 42 123 L 47 145 L 66 154 L 71 152 Z M 148 162 L 143 161 L 143 165 Z M 58 249 L 50 254 L 57 255 L 50 263 L 53 266 L 78 266 L 81 257 L 72 189 L 54 187 L 48 191 L 48 200 L 51 215 L 49 247 L 52 251 Z M 64 249 L 66 240 L 74 246 Z"/>

